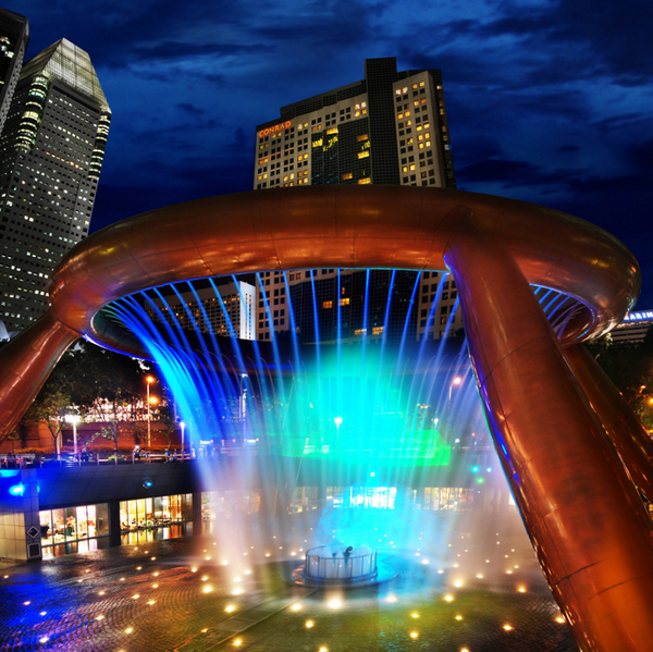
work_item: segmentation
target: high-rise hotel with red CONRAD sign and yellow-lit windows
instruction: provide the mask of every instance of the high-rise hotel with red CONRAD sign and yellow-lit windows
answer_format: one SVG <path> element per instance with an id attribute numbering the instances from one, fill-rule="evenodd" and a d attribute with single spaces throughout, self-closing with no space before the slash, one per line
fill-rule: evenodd
<path id="1" fill-rule="evenodd" d="M 368 59 L 365 79 L 282 107 L 280 118 L 258 125 L 256 144 L 255 189 L 322 184 L 456 187 L 441 72 L 398 72 L 394 58 Z M 329 324 L 334 323 L 334 319 L 329 318 L 328 310 L 335 312 L 338 308 L 341 324 L 347 323 L 346 331 L 341 332 L 345 340 L 362 335 L 374 340 L 384 333 L 401 336 L 397 328 L 390 329 L 390 324 L 384 323 L 387 292 L 382 298 L 375 291 L 375 284 L 389 290 L 391 280 L 393 302 L 403 304 L 406 315 L 412 305 L 411 339 L 439 339 L 445 331 L 456 332 L 463 327 L 460 312 L 452 315 L 457 299 L 454 280 L 443 279 L 442 272 L 433 271 L 421 274 L 415 294 L 416 272 L 401 271 L 394 276 L 390 271 L 374 272 L 370 288 L 380 304 L 370 304 L 369 310 L 379 319 L 372 323 L 374 320 L 368 311 L 366 325 L 369 328 L 362 328 L 362 312 L 353 306 L 354 302 L 360 303 L 360 293 L 349 294 L 349 286 L 352 290 L 360 286 L 360 273 L 347 280 L 353 272 L 343 270 L 342 283 L 335 287 L 333 281 L 326 283 L 337 275 L 335 270 L 295 271 L 287 274 L 287 283 L 298 322 L 308 324 L 313 306 L 305 305 L 301 299 L 308 296 L 308 291 L 294 290 L 294 286 L 308 287 L 311 274 L 312 285 L 321 293 L 317 308 L 320 323 L 324 324 L 322 330 L 332 332 Z M 331 285 L 333 288 L 328 290 Z M 272 330 L 291 328 L 284 286 L 283 275 L 275 272 L 264 275 L 264 285 L 259 291 L 271 294 L 258 299 L 257 337 L 260 340 L 269 340 Z M 392 311 L 391 303 L 387 315 Z M 304 312 L 306 319 L 300 317 Z M 402 310 L 396 312 L 395 321 L 401 320 L 401 313 Z M 310 335 L 306 337 L 310 340 Z"/>

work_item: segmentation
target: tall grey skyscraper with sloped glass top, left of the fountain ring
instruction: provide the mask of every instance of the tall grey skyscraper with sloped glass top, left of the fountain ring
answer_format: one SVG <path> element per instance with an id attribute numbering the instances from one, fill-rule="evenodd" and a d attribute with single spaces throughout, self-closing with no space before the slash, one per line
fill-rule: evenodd
<path id="1" fill-rule="evenodd" d="M 88 54 L 62 39 L 23 66 L 0 135 L 0 319 L 47 307 L 50 273 L 88 233 L 111 111 Z"/>

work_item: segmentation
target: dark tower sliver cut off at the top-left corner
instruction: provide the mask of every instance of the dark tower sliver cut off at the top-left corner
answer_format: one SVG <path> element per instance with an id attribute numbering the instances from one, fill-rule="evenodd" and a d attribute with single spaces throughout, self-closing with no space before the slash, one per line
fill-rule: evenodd
<path id="1" fill-rule="evenodd" d="M 0 8 L 0 132 L 7 120 L 28 42 L 27 19 Z"/>

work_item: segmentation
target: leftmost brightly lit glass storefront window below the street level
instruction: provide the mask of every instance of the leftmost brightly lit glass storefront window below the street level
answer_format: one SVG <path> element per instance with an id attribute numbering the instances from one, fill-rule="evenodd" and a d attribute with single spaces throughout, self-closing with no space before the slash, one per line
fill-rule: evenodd
<path id="1" fill-rule="evenodd" d="M 39 512 L 44 558 L 106 548 L 109 506 L 81 505 Z"/>

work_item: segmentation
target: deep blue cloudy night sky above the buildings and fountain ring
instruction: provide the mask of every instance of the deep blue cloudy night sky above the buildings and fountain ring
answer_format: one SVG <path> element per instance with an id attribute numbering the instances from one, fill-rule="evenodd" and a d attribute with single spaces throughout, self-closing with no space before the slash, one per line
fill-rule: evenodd
<path id="1" fill-rule="evenodd" d="M 594 0 L 21 0 L 27 58 L 85 49 L 113 112 L 91 231 L 251 189 L 255 127 L 361 79 L 440 67 L 458 188 L 603 226 L 653 308 L 653 3 Z"/>

